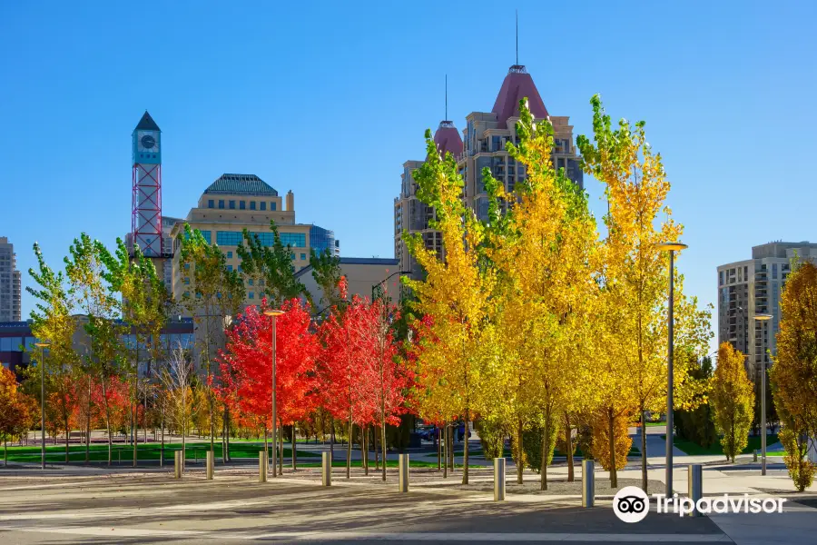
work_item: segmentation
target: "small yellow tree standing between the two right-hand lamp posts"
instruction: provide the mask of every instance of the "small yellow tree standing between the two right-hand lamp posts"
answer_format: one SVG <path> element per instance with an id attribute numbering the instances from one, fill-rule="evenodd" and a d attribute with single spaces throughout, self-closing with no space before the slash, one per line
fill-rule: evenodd
<path id="1" fill-rule="evenodd" d="M 754 407 L 754 387 L 746 376 L 744 360 L 743 352 L 734 350 L 729 342 L 721 343 L 710 396 L 715 429 L 723 435 L 723 453 L 733 462 L 749 441 Z"/>

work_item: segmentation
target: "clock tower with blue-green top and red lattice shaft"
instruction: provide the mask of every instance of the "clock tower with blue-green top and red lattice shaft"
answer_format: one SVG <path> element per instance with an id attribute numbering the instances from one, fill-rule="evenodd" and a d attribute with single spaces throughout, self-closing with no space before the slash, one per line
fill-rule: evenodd
<path id="1" fill-rule="evenodd" d="M 145 257 L 162 257 L 162 131 L 147 111 L 132 139 L 133 244 Z"/>

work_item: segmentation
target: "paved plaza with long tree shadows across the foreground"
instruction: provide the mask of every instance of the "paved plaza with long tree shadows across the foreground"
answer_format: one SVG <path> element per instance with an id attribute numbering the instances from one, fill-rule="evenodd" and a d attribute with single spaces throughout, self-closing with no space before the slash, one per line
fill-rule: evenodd
<path id="1" fill-rule="evenodd" d="M 659 434 L 648 430 L 650 492 L 664 491 L 664 451 Z M 640 438 L 634 437 L 638 445 Z M 478 448 L 478 441 L 474 441 Z M 319 451 L 320 445 L 308 447 Z M 653 454 L 655 453 L 655 456 Z M 336 450 L 340 459 L 344 451 Z M 627 524 L 615 517 L 607 473 L 596 471 L 596 507 L 582 509 L 581 467 L 567 482 L 564 462 L 548 470 L 549 487 L 538 490 L 538 475 L 526 471 L 524 484 L 507 472 L 507 500 L 495 502 L 492 472 L 474 468 L 467 487 L 461 470 L 447 479 L 436 468 L 412 468 L 408 493 L 400 493 L 397 471 L 355 468 L 352 478 L 336 467 L 330 488 L 320 470 L 303 468 L 258 482 L 257 462 L 222 465 L 207 481 L 202 463 L 188 463 L 181 481 L 171 468 L 131 469 L 103 465 L 53 466 L 44 474 L 33 464 L 0 469 L 2 543 L 238 543 L 246 541 L 528 541 L 572 543 L 809 543 L 817 535 L 817 494 L 792 489 L 783 464 L 768 475 L 751 456 L 737 464 L 721 457 L 675 452 L 674 490 L 685 493 L 685 464 L 704 464 L 704 496 L 747 493 L 786 498 L 783 513 L 684 517 L 659 514 L 655 504 L 645 520 Z M 412 460 L 436 461 L 432 452 Z M 478 456 L 476 465 L 483 465 Z M 619 487 L 640 485 L 637 459 L 619 472 Z"/>

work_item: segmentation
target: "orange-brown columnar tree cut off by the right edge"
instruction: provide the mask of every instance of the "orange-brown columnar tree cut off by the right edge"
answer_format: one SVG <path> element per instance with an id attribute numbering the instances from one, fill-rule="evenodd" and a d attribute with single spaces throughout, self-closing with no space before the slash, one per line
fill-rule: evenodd
<path id="1" fill-rule="evenodd" d="M 809 438 L 817 437 L 817 266 L 792 263 L 780 309 L 770 375 L 774 407 L 783 423 L 784 461 L 795 488 L 802 491 L 812 485 L 815 471 L 807 453 Z"/>

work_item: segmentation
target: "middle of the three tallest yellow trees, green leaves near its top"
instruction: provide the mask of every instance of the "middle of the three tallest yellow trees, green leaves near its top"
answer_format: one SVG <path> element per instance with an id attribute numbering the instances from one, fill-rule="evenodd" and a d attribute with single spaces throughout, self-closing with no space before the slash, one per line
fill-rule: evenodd
<path id="1" fill-rule="evenodd" d="M 527 177 L 513 193 L 482 173 L 489 197 L 486 263 L 497 271 L 497 370 L 491 390 L 501 399 L 487 411 L 501 414 L 512 431 L 517 482 L 522 481 L 523 432 L 540 434 L 538 460 L 542 490 L 547 487 L 547 463 L 561 414 L 573 398 L 586 394 L 577 381 L 579 332 L 586 322 L 588 301 L 595 289 L 592 258 L 596 222 L 586 194 L 554 169 L 553 126 L 536 120 L 519 104 L 518 144 L 507 144 L 509 156 L 524 165 Z M 487 381 L 488 383 L 488 381 Z M 496 385 L 496 386 L 495 386 Z"/>

